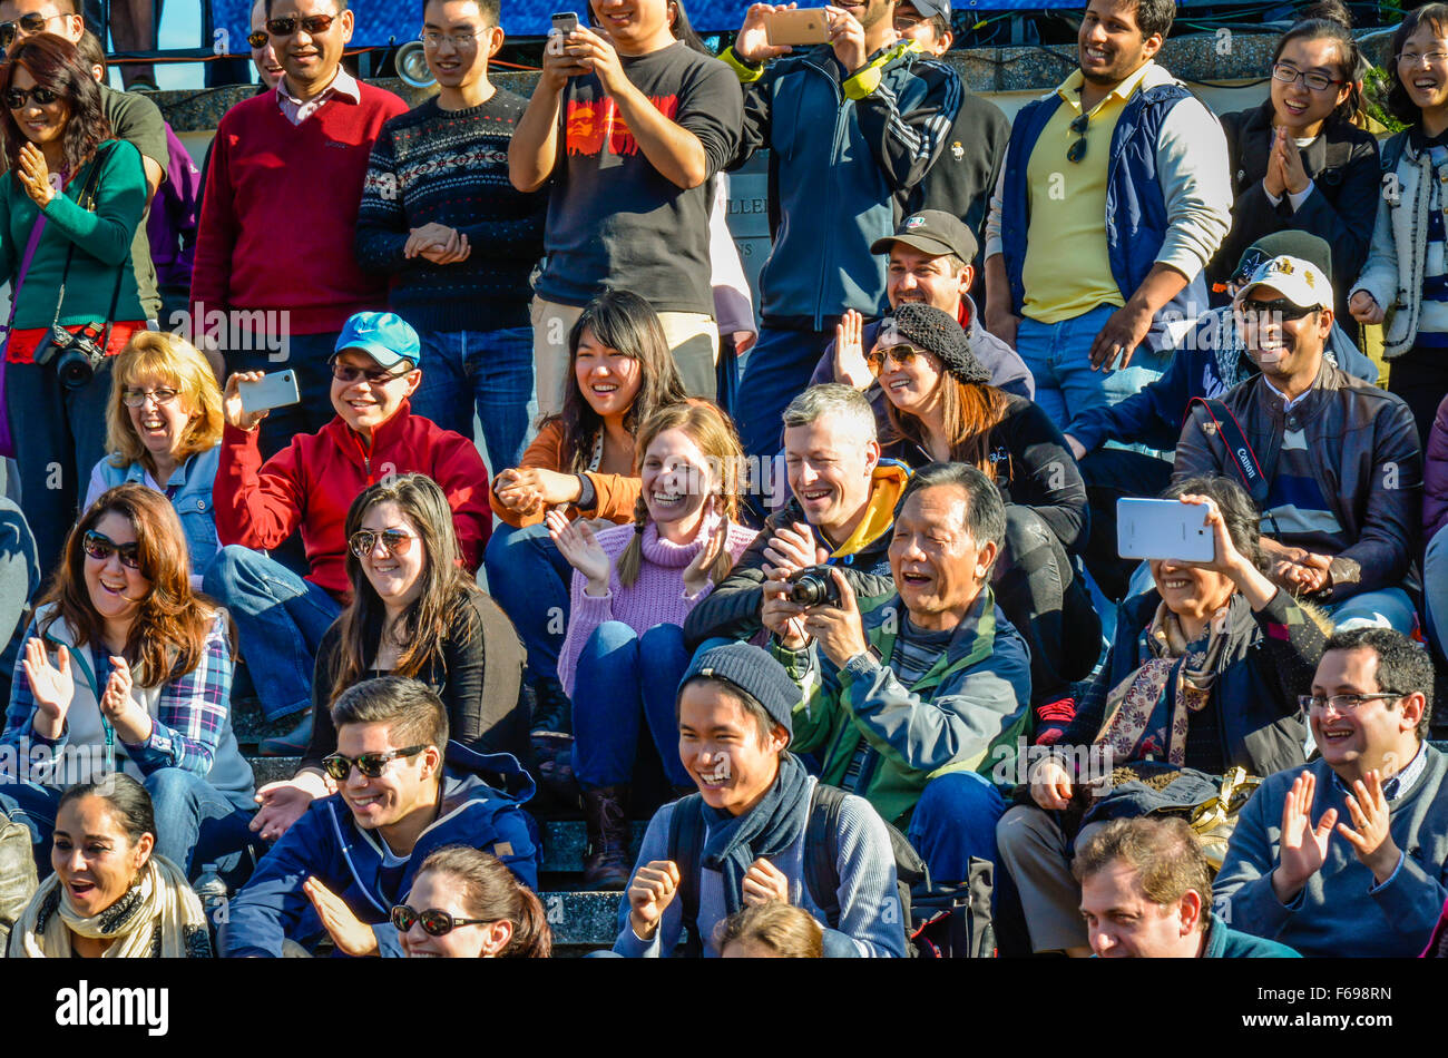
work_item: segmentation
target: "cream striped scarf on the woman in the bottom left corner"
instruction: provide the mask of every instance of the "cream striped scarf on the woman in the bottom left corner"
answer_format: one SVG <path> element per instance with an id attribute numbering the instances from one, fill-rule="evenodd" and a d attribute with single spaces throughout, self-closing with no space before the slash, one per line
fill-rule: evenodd
<path id="1" fill-rule="evenodd" d="M 10 958 L 71 958 L 72 936 L 113 938 L 101 958 L 210 958 L 201 902 L 175 864 L 152 855 L 125 896 L 84 916 L 52 874 L 26 905 L 10 936 Z"/>

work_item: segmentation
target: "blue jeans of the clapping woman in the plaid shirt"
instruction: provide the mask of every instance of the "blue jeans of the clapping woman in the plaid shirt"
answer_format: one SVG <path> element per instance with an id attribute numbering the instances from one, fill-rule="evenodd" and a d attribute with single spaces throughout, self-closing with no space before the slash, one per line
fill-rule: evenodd
<path id="1" fill-rule="evenodd" d="M 152 771 L 145 780 L 156 819 L 156 852 L 195 881 L 207 870 L 226 876 L 235 889 L 245 883 L 248 845 L 258 845 L 248 829 L 251 805 L 235 800 L 200 776 L 178 767 Z M 51 874 L 51 838 L 64 789 L 41 783 L 0 784 L 0 812 L 23 824 L 35 842 L 41 877 Z M 259 847 L 265 852 L 265 847 Z"/>

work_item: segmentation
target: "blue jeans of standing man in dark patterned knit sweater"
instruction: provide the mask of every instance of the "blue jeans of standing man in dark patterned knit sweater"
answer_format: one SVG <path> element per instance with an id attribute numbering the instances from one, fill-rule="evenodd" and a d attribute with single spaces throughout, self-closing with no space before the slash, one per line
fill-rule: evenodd
<path id="1" fill-rule="evenodd" d="M 424 330 L 423 381 L 413 412 L 472 437 L 476 407 L 488 469 L 517 466 L 533 404 L 533 329 Z"/>

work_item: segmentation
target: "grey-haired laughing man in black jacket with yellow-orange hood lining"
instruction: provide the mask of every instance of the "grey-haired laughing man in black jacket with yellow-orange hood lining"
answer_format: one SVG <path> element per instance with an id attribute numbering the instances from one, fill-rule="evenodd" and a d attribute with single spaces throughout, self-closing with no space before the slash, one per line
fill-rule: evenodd
<path id="1" fill-rule="evenodd" d="M 794 496 L 769 515 L 723 583 L 689 611 L 683 640 L 691 650 L 705 640 L 747 640 L 757 634 L 766 583 L 815 573 L 824 585 L 830 577 L 822 567 L 837 567 L 860 598 L 895 591 L 889 577 L 891 524 L 909 469 L 880 457 L 869 399 L 854 386 L 827 382 L 795 397 L 783 420 L 785 467 Z M 801 591 L 811 588 L 804 585 Z"/>

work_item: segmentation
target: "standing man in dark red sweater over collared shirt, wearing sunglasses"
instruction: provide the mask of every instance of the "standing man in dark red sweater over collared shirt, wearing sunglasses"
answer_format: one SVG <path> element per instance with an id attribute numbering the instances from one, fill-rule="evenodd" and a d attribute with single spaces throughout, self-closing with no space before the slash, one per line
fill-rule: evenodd
<path id="1" fill-rule="evenodd" d="M 191 331 L 227 371 L 297 372 L 265 453 L 332 418 L 326 362 L 343 321 L 387 307 L 387 278 L 352 253 L 368 158 L 407 104 L 342 68 L 346 0 L 266 0 L 282 78 L 222 117 L 191 272 Z M 220 359 L 213 355 L 217 376 Z"/>

